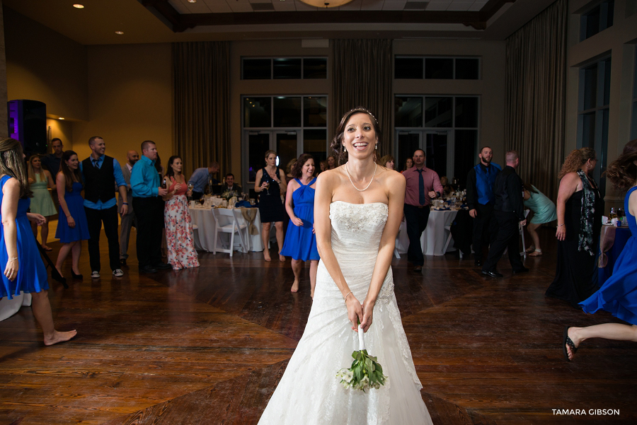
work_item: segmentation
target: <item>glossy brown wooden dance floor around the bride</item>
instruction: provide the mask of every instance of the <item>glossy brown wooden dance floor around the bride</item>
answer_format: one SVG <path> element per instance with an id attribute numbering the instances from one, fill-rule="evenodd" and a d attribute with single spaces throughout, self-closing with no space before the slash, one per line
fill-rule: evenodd
<path id="1" fill-rule="evenodd" d="M 504 279 L 481 276 L 472 257 L 427 257 L 422 274 L 394 258 L 434 424 L 637 423 L 636 344 L 589 340 L 573 363 L 563 359 L 564 325 L 616 320 L 544 297 L 556 244 L 542 231 L 544 257 L 527 258 L 526 275 L 512 276 L 506 258 Z M 140 276 L 133 231 L 116 279 L 104 235 L 101 248 L 101 279 L 89 277 L 85 243 L 84 281 L 52 281 L 57 328 L 76 328 L 75 339 L 45 347 L 30 308 L 0 322 L 0 425 L 256 424 L 302 336 L 309 277 L 290 293 L 289 260 L 275 252 L 270 263 L 260 252 L 200 252 L 197 269 Z M 558 414 L 566 409 L 580 412 Z"/>

